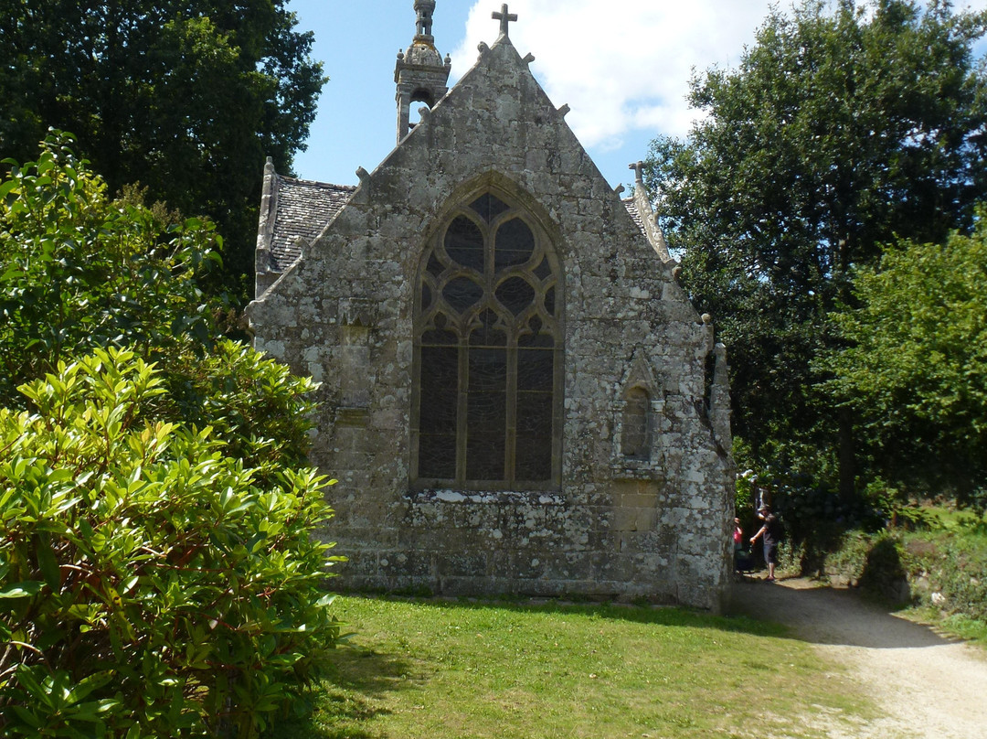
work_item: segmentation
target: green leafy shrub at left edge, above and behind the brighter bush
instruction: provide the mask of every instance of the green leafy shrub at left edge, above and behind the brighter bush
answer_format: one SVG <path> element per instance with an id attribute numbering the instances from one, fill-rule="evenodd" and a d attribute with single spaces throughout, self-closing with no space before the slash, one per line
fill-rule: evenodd
<path id="1" fill-rule="evenodd" d="M 0 183 L 0 401 L 67 355 L 108 345 L 169 360 L 218 335 L 199 287 L 218 261 L 212 224 L 112 201 L 58 134 Z M 20 399 L 19 399 L 20 398 Z"/>

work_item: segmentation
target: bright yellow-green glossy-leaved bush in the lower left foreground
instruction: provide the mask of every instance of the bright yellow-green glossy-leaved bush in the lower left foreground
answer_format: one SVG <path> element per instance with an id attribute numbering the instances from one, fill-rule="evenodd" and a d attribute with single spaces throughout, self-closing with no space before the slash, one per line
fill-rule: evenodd
<path id="1" fill-rule="evenodd" d="M 34 409 L 0 410 L 0 733 L 254 735 L 340 636 L 325 481 L 155 418 L 163 377 L 131 352 L 21 389 Z"/>

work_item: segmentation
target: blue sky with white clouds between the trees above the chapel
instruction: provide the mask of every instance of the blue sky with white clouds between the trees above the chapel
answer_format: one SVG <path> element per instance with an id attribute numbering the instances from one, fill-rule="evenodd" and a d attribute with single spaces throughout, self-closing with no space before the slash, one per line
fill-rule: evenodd
<path id="1" fill-rule="evenodd" d="M 771 0 L 515 0 L 510 37 L 531 52 L 535 77 L 614 187 L 657 134 L 682 136 L 693 112 L 684 96 L 693 68 L 735 66 Z M 450 86 L 476 61 L 477 43 L 496 39 L 499 0 L 436 0 L 432 35 L 452 56 Z M 788 3 L 783 2 L 786 7 Z M 987 8 L 987 0 L 954 6 Z M 315 33 L 313 56 L 331 78 L 319 100 L 308 150 L 296 174 L 356 183 L 395 144 L 394 64 L 415 35 L 414 0 L 290 0 L 298 30 Z"/>

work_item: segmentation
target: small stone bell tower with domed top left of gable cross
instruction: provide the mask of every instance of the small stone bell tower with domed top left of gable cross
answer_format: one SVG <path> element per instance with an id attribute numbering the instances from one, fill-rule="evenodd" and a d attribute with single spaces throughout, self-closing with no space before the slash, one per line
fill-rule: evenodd
<path id="1" fill-rule="evenodd" d="M 398 141 L 409 131 L 412 103 L 434 106 L 448 91 L 452 60 L 442 59 L 431 34 L 431 17 L 435 0 L 415 0 L 415 39 L 407 51 L 398 51 L 394 81 L 398 85 Z"/>

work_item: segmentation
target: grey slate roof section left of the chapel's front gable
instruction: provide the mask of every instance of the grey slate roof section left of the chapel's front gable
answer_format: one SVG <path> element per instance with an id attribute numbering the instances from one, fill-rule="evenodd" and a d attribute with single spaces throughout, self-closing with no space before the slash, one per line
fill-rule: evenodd
<path id="1" fill-rule="evenodd" d="M 277 176 L 276 213 L 270 239 L 270 269 L 282 273 L 301 255 L 302 243 L 315 239 L 349 196 L 351 185 L 329 185 Z"/>

